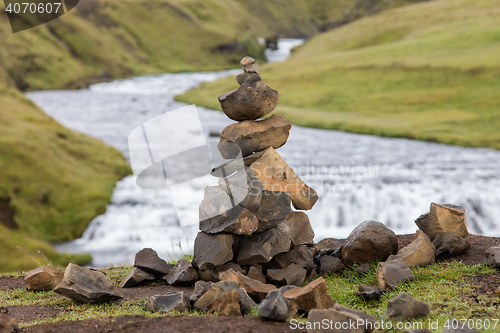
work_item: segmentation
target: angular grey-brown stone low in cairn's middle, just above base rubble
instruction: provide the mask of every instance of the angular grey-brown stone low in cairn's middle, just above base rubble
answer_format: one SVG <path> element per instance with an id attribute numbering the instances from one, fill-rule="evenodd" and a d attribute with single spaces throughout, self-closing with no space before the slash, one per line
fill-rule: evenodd
<path id="1" fill-rule="evenodd" d="M 266 263 L 278 253 L 288 251 L 290 245 L 290 228 L 281 223 L 261 234 L 244 238 L 241 242 L 237 262 L 240 265 Z"/>

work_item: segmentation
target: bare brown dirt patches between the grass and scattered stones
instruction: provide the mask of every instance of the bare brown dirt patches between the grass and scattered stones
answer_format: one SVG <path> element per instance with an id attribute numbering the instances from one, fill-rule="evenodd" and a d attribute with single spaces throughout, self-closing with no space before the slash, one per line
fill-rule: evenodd
<path id="1" fill-rule="evenodd" d="M 399 235 L 399 248 L 413 241 L 415 234 Z M 481 264 L 485 257 L 485 251 L 491 246 L 500 245 L 500 238 L 471 235 L 466 238 L 471 249 L 461 256 L 454 258 L 442 258 L 439 261 L 458 260 L 466 265 Z M 469 281 L 470 280 L 470 281 Z M 477 301 L 476 297 L 485 293 L 494 292 L 500 285 L 499 274 L 482 274 L 470 278 L 464 283 L 477 286 L 470 302 Z M 26 288 L 27 284 L 23 278 L 0 278 L 0 290 Z M 192 287 L 172 287 L 168 285 L 145 285 L 135 288 L 123 289 L 126 300 L 147 299 L 150 296 L 164 294 L 169 291 L 180 290 L 191 294 Z M 57 296 L 62 297 L 62 296 Z M 12 306 L 2 307 L 0 313 L 15 317 L 19 323 L 29 323 L 57 316 L 60 309 L 52 306 Z M 62 322 L 43 324 L 24 329 L 22 332 L 196 332 L 196 333 L 224 333 L 224 332 L 301 332 L 292 330 L 289 323 L 275 323 L 265 321 L 258 317 L 161 317 L 146 318 L 141 316 L 114 317 L 105 321 L 85 320 L 75 322 Z"/>

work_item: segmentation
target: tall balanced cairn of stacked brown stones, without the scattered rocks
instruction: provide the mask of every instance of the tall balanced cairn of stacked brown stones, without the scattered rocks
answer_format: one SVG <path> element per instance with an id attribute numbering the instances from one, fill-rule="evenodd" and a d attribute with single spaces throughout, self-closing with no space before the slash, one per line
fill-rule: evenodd
<path id="1" fill-rule="evenodd" d="M 263 283 L 300 286 L 313 269 L 314 232 L 291 205 L 309 210 L 318 196 L 276 152 L 290 123 L 276 114 L 257 120 L 276 108 L 278 92 L 262 81 L 253 58 L 241 65 L 240 87 L 219 96 L 224 113 L 238 122 L 220 136 L 217 148 L 230 162 L 212 171 L 219 185 L 205 189 L 193 266 L 205 281 L 217 282 L 232 268 Z"/>

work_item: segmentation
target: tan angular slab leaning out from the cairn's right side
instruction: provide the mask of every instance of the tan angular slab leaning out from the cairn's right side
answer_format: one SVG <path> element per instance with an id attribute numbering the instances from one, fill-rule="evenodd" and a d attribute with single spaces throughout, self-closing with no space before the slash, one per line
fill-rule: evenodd
<path id="1" fill-rule="evenodd" d="M 262 156 L 250 167 L 264 190 L 286 192 L 296 209 L 309 210 L 318 200 L 316 191 L 295 174 L 273 147 L 264 150 Z"/>

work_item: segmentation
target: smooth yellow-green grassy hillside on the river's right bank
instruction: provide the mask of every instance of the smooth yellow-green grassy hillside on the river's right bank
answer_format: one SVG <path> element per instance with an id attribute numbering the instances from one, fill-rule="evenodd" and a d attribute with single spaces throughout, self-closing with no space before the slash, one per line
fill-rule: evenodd
<path id="1" fill-rule="evenodd" d="M 500 149 L 500 2 L 436 0 L 365 17 L 261 67 L 295 124 Z M 234 78 L 179 96 L 219 109 Z"/>

